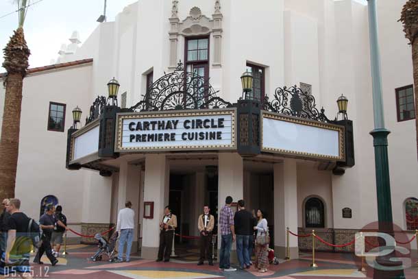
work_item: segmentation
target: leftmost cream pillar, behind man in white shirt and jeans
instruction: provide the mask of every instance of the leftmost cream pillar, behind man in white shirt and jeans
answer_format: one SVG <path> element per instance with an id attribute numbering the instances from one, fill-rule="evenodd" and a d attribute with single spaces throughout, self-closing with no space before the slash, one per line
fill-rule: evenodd
<path id="1" fill-rule="evenodd" d="M 132 202 L 134 217 L 134 243 L 132 253 L 138 252 L 138 224 L 139 224 L 139 195 L 140 195 L 140 167 L 121 162 L 119 167 L 118 213 L 125 208 L 127 201 Z"/>

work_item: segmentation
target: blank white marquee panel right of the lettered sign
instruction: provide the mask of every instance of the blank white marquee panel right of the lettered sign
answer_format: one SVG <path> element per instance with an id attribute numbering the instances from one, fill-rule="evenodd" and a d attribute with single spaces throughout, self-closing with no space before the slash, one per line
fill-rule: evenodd
<path id="1" fill-rule="evenodd" d="M 262 151 L 345 160 L 344 127 L 262 111 Z"/>

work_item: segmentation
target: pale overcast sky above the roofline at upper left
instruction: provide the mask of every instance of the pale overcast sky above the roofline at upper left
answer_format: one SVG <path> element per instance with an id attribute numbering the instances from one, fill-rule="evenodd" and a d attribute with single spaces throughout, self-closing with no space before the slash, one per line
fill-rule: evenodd
<path id="1" fill-rule="evenodd" d="M 35 3 L 38 0 L 32 0 Z M 106 15 L 114 21 L 116 14 L 126 5 L 137 0 L 108 0 Z M 337 1 L 337 0 L 336 0 Z M 354 0 L 366 2 L 366 0 Z M 29 7 L 25 25 L 25 38 L 31 51 L 29 67 L 45 66 L 58 58 L 62 44 L 69 44 L 73 31 L 79 32 L 82 43 L 99 23 L 97 18 L 103 13 L 104 0 L 41 0 Z M 17 10 L 13 0 L 0 0 L 0 49 L 8 43 L 18 24 L 18 13 L 1 16 Z M 3 51 L 0 66 L 3 63 Z M 0 73 L 5 70 L 0 67 Z"/>

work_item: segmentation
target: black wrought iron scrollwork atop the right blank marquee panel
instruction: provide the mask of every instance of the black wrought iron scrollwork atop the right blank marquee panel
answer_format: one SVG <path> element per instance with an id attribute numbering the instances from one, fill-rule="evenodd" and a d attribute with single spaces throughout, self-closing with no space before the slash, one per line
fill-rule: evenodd
<path id="1" fill-rule="evenodd" d="M 297 86 L 290 88 L 286 88 L 286 86 L 283 88 L 279 87 L 275 90 L 271 101 L 268 97 L 265 97 L 262 102 L 263 110 L 303 119 L 330 122 L 325 116 L 325 110 L 323 108 L 318 110 L 316 106 L 315 97 L 307 92 L 303 92 Z"/>

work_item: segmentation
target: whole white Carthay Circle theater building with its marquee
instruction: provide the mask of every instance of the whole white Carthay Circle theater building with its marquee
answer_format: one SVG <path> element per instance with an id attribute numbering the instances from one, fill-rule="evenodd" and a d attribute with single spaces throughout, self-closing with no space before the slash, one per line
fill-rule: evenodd
<path id="1" fill-rule="evenodd" d="M 378 12 L 393 219 L 412 236 L 418 163 L 403 2 L 380 1 Z M 202 206 L 217 217 L 228 195 L 267 211 L 281 257 L 286 227 L 349 242 L 377 221 L 367 25 L 367 6 L 350 0 L 137 1 L 63 64 L 25 78 L 16 196 L 36 212 L 51 192 L 84 234 L 112 227 L 129 199 L 144 258 L 156 258 L 164 206 L 178 234 L 195 236 Z M 53 117 L 66 119 L 64 132 L 45 131 Z M 291 258 L 308 249 L 290 239 Z"/>

